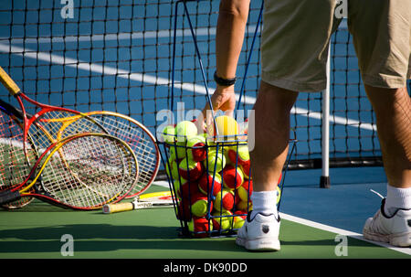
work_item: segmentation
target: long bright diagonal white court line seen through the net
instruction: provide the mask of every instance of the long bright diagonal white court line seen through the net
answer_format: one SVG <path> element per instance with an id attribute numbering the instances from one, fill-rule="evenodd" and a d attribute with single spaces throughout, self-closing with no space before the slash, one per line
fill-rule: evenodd
<path id="1" fill-rule="evenodd" d="M 148 74 L 132 73 L 124 69 L 112 68 L 108 66 L 100 66 L 95 63 L 85 62 L 85 61 L 81 61 L 78 59 L 71 59 L 67 57 L 61 57 L 61 56 L 49 54 L 46 52 L 36 52 L 35 50 L 31 50 L 29 48 L 20 48 L 20 47 L 9 46 L 9 45 L 0 43 L 0 51 L 6 52 L 6 53 L 10 52 L 15 55 L 23 56 L 24 58 L 39 59 L 39 60 L 46 61 L 49 63 L 65 65 L 71 68 L 92 71 L 94 73 L 99 73 L 102 75 L 104 74 L 118 75 L 118 77 L 128 79 L 128 80 L 135 80 L 135 81 L 151 83 L 151 84 L 156 84 L 156 85 L 171 86 L 171 80 L 168 80 L 165 78 L 155 77 L 155 76 L 148 75 Z M 182 82 L 178 82 L 178 80 L 174 82 L 174 88 L 182 89 L 185 91 L 194 91 L 195 93 L 200 93 L 204 95 L 207 93 L 205 86 L 197 85 L 194 83 L 182 83 Z M 214 90 L 215 90 L 214 88 L 208 88 L 208 92 L 210 94 L 212 94 Z M 239 95 L 237 94 L 236 97 L 238 100 Z M 243 103 L 253 105 L 256 102 L 256 98 L 246 95 L 242 97 L 241 101 Z M 307 109 L 293 107 L 291 109 L 291 113 L 295 113 L 301 116 L 306 116 L 306 117 L 311 117 L 313 119 L 321 120 L 321 112 L 313 112 Z M 358 127 L 364 130 L 376 131 L 375 124 L 362 123 L 360 121 L 343 118 L 343 117 L 335 116 L 335 115 L 330 116 L 330 123 L 349 125 L 351 127 Z"/>

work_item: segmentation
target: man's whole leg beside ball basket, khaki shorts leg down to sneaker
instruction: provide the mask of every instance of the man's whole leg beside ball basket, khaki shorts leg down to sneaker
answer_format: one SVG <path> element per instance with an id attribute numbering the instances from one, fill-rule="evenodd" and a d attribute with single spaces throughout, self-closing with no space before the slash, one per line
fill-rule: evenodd
<path id="1" fill-rule="evenodd" d="M 248 250 L 279 250 L 277 192 L 290 139 L 290 110 L 296 91 L 325 89 L 330 37 L 339 21 L 334 0 L 268 0 L 261 34 L 261 84 L 248 133 L 252 211 L 237 233 Z M 301 45 L 304 47 L 301 48 Z M 249 129 L 250 130 L 250 129 Z M 249 131 L 251 132 L 251 131 Z"/>

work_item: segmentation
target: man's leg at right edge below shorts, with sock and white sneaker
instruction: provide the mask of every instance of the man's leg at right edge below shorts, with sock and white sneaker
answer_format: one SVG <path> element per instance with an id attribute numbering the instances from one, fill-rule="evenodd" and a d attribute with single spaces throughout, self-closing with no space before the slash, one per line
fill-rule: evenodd
<path id="1" fill-rule="evenodd" d="M 395 246 L 411 245 L 411 99 L 402 89 L 365 85 L 376 120 L 387 195 L 374 218 L 364 225 L 364 237 Z"/>

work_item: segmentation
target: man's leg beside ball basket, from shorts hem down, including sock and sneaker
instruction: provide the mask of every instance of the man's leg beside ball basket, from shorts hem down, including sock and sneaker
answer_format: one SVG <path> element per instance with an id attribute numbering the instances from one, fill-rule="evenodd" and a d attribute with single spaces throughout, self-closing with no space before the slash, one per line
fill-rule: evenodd
<path id="1" fill-rule="evenodd" d="M 290 139 L 290 110 L 298 92 L 261 82 L 254 106 L 254 137 L 250 149 L 253 210 L 237 233 L 237 244 L 248 250 L 279 250 L 279 214 L 276 188 L 287 158 Z"/>

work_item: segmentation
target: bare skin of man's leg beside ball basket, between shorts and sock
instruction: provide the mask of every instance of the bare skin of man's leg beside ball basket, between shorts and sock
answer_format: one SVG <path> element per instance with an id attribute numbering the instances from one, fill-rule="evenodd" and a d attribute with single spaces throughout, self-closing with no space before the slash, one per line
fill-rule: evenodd
<path id="1" fill-rule="evenodd" d="M 273 191 L 287 159 L 290 140 L 290 110 L 298 92 L 261 81 L 254 105 L 255 146 L 250 151 L 254 191 Z"/>

